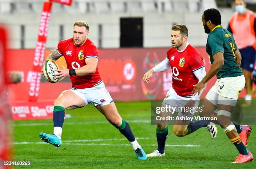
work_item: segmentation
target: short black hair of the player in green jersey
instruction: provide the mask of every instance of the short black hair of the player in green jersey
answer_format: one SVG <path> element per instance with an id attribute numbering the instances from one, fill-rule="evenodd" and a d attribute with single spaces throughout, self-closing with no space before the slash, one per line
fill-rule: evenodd
<path id="1" fill-rule="evenodd" d="M 211 9 L 205 10 L 204 15 L 205 15 L 205 22 L 210 20 L 214 25 L 221 24 L 220 11 L 214 8 L 211 8 Z"/>

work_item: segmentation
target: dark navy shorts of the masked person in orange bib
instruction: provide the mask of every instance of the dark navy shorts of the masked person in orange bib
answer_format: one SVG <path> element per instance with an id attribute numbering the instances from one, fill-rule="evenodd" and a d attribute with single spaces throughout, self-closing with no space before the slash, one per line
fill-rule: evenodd
<path id="1" fill-rule="evenodd" d="M 254 47 L 244 47 L 242 49 L 239 49 L 239 51 L 242 56 L 241 67 L 245 70 L 253 71 L 256 55 L 256 50 L 254 49 Z"/>

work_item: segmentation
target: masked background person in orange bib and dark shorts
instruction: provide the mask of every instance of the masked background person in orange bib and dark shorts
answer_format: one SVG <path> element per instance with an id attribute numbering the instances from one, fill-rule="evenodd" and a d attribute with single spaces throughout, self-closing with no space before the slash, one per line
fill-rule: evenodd
<path id="1" fill-rule="evenodd" d="M 254 94 L 252 88 L 251 72 L 254 69 L 256 54 L 256 15 L 246 9 L 243 0 L 235 0 L 236 12 L 230 18 L 228 31 L 233 33 L 236 45 L 242 56 L 241 68 L 246 79 L 246 104 L 251 104 Z"/>

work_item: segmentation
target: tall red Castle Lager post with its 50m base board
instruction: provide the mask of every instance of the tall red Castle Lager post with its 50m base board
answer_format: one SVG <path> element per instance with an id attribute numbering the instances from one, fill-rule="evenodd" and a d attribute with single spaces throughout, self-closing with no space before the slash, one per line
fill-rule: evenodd
<path id="1" fill-rule="evenodd" d="M 47 33 L 51 16 L 52 2 L 71 5 L 72 0 L 49 0 L 45 1 L 41 14 L 38 30 L 38 40 L 33 58 L 33 69 L 30 71 L 29 99 L 26 102 L 10 102 L 10 112 L 13 120 L 21 119 L 51 119 L 53 112 L 53 101 L 38 102 L 41 82 L 41 69 L 44 63 Z"/>

